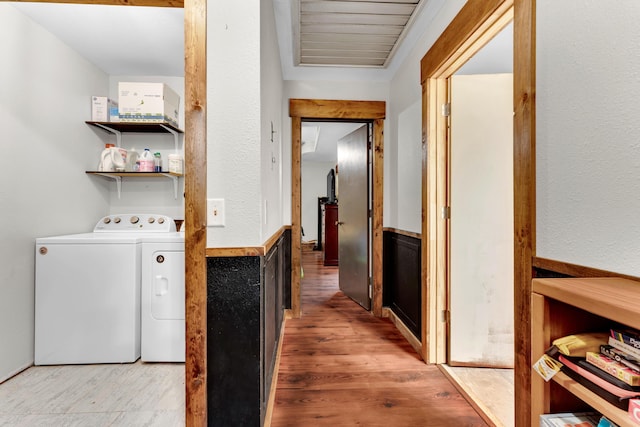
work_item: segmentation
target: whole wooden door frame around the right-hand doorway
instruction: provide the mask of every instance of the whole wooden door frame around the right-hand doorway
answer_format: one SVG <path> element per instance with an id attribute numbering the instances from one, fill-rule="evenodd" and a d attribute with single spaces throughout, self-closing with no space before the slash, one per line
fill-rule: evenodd
<path id="1" fill-rule="evenodd" d="M 535 253 L 535 0 L 468 0 L 421 61 L 422 356 L 446 361 L 447 78 L 514 22 L 514 390 L 515 425 L 531 419 L 531 278 Z"/>

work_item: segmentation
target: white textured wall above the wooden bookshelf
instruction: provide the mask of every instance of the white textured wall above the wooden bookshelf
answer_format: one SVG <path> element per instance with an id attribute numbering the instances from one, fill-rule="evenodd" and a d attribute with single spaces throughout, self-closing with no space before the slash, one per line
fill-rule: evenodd
<path id="1" fill-rule="evenodd" d="M 639 18 L 635 0 L 537 2 L 539 257 L 640 276 Z"/>

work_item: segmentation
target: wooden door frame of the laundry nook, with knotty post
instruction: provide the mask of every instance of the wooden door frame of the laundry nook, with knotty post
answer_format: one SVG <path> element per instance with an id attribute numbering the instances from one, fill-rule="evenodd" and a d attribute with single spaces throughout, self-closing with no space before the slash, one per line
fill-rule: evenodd
<path id="1" fill-rule="evenodd" d="M 22 1 L 22 0 L 16 0 Z M 27 0 L 25 0 L 27 1 Z M 28 0 L 32 1 L 32 0 Z M 35 0 L 40 3 L 184 8 L 185 51 L 185 394 L 187 427 L 207 425 L 207 2 L 206 0 Z"/>

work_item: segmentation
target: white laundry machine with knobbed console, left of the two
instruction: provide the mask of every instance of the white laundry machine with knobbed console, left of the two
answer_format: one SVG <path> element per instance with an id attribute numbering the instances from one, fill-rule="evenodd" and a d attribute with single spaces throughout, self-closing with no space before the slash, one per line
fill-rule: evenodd
<path id="1" fill-rule="evenodd" d="M 140 358 L 141 236 L 159 215 L 109 215 L 92 233 L 36 239 L 35 364 Z"/>

